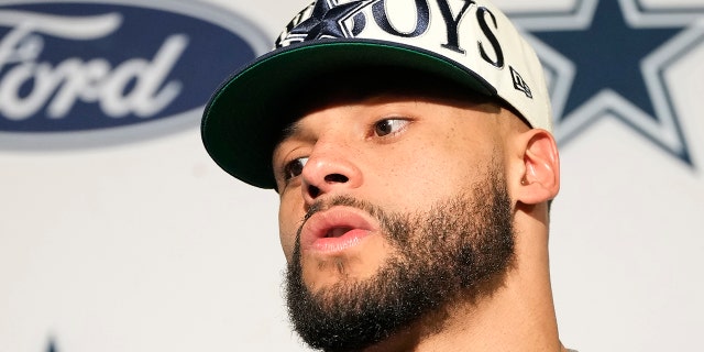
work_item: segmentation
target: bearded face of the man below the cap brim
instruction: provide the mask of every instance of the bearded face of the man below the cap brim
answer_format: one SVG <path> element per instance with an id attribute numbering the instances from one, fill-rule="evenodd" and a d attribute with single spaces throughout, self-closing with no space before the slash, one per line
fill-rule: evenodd
<path id="1" fill-rule="evenodd" d="M 377 96 L 296 122 L 274 169 L 289 310 L 304 340 L 366 346 L 506 272 L 499 111 Z"/>

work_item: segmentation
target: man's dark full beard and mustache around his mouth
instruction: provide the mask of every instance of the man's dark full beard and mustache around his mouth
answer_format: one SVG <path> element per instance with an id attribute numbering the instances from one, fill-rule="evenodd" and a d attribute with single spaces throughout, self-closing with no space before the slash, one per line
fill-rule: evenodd
<path id="1" fill-rule="evenodd" d="M 311 293 L 302 279 L 298 231 L 286 272 L 286 300 L 294 329 L 314 349 L 360 351 L 424 317 L 442 320 L 451 304 L 476 301 L 496 290 L 514 260 L 510 199 L 505 178 L 495 169 L 469 194 L 422 212 L 387 212 L 336 197 L 314 205 L 307 218 L 333 206 L 359 208 L 376 218 L 394 253 L 370 278 L 341 280 Z"/>

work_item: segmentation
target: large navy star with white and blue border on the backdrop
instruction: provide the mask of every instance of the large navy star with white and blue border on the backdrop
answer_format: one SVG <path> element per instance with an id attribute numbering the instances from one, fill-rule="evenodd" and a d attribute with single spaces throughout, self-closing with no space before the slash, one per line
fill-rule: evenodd
<path id="1" fill-rule="evenodd" d="M 704 43 L 691 25 L 704 8 L 652 10 L 639 0 L 579 0 L 563 13 L 510 13 L 543 62 L 561 144 L 605 116 L 692 164 L 664 80 L 667 68 Z"/>

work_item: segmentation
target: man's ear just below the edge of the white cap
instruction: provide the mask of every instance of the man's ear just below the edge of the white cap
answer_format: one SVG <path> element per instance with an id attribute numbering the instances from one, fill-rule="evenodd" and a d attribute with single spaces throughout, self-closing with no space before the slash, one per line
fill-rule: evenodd
<path id="1" fill-rule="evenodd" d="M 560 156 L 552 134 L 532 129 L 524 133 L 522 174 L 516 198 L 527 205 L 537 205 L 554 198 L 560 190 Z"/>

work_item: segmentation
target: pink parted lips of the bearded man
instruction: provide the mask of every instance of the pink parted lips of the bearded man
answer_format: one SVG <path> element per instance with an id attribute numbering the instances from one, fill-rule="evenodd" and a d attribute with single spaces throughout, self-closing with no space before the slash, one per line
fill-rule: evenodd
<path id="1" fill-rule="evenodd" d="M 358 245 L 377 227 L 362 210 L 332 207 L 314 213 L 300 231 L 300 248 L 320 254 L 336 254 Z M 334 237 L 330 237 L 334 233 Z"/>

